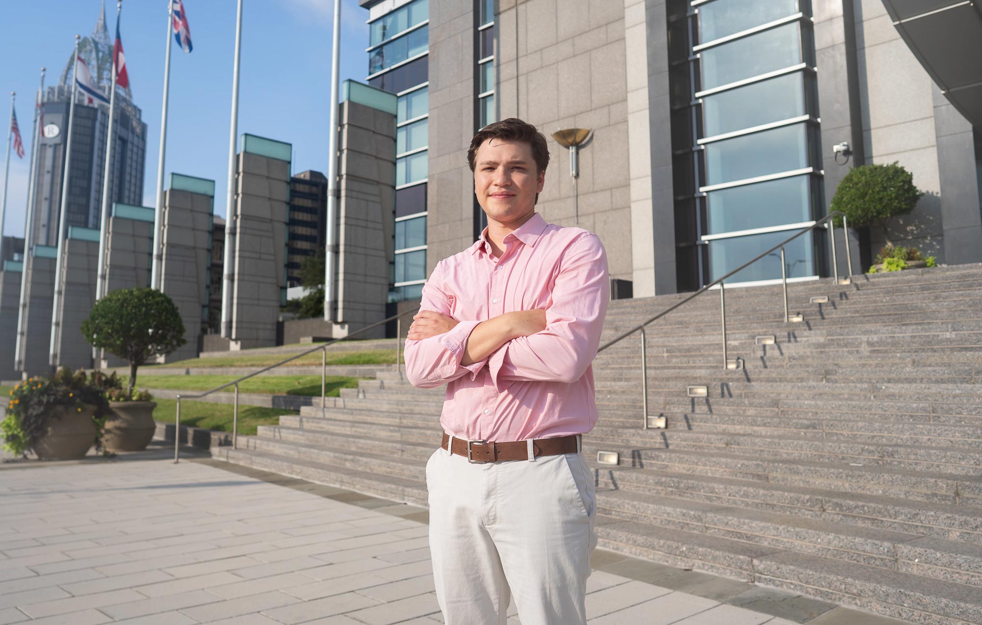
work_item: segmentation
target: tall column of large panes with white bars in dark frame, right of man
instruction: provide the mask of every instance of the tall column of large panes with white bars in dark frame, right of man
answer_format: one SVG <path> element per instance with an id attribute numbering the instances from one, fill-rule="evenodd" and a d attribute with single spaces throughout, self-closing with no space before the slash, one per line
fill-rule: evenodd
<path id="1" fill-rule="evenodd" d="M 698 288 L 823 212 L 808 0 L 670 1 L 679 288 Z M 819 275 L 824 237 L 786 248 L 789 278 Z M 781 278 L 780 255 L 728 280 Z"/>

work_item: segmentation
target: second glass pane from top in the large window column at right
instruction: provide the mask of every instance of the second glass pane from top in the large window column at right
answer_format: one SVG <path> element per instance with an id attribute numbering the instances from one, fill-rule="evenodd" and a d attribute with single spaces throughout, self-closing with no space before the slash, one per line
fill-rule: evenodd
<path id="1" fill-rule="evenodd" d="M 800 28 L 796 23 L 771 28 L 703 50 L 699 56 L 702 88 L 727 85 L 800 63 Z"/>

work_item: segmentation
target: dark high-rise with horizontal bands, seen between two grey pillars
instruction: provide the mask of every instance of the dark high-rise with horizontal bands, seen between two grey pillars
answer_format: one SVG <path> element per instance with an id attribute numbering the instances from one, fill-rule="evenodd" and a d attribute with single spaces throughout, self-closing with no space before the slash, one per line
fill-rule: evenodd
<path id="1" fill-rule="evenodd" d="M 327 178 L 307 170 L 290 179 L 287 223 L 287 285 L 300 286 L 300 264 L 324 249 L 327 230 Z"/>

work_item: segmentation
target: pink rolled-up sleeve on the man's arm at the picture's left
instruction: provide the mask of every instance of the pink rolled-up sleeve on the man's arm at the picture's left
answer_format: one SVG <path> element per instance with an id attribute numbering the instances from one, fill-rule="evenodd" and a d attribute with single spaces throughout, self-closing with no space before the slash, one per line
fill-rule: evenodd
<path id="1" fill-rule="evenodd" d="M 451 314 L 450 299 L 443 288 L 441 264 L 437 263 L 423 285 L 420 311 Z M 406 377 L 418 388 L 433 388 L 466 374 L 474 379 L 487 360 L 461 365 L 470 332 L 480 321 L 461 321 L 454 329 L 421 341 L 406 341 Z"/>

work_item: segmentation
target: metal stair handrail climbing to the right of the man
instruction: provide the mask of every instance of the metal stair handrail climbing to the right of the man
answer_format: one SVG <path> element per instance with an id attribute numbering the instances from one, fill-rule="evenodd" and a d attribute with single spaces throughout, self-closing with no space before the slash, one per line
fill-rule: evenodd
<path id="1" fill-rule="evenodd" d="M 682 302 L 679 302 L 678 304 L 675 304 L 673 306 L 670 306 L 669 308 L 665 309 L 661 313 L 658 313 L 658 314 L 654 315 L 653 317 L 651 317 L 650 319 L 648 319 L 647 321 L 644 321 L 640 325 L 636 325 L 636 326 L 632 327 L 631 329 L 627 330 L 626 332 L 622 333 L 617 338 L 615 338 L 615 339 L 613 339 L 611 341 L 608 341 L 607 343 L 605 343 L 604 345 L 602 345 L 597 350 L 597 353 L 599 354 L 600 352 L 604 351 L 605 349 L 607 349 L 607 348 L 609 348 L 609 347 L 611 347 L 613 345 L 616 345 L 617 343 L 620 343 L 621 341 L 623 341 L 624 339 L 626 339 L 628 336 L 630 336 L 634 332 L 640 332 L 641 333 L 641 392 L 644 394 L 644 397 L 643 397 L 643 410 L 644 410 L 644 415 L 643 415 L 644 425 L 643 425 L 643 429 L 647 429 L 648 428 L 648 421 L 650 419 L 650 417 L 648 415 L 648 365 L 647 365 L 647 360 L 645 358 L 645 356 L 646 356 L 646 353 L 645 353 L 645 332 L 644 332 L 645 326 L 647 326 L 649 323 L 652 323 L 653 321 L 657 321 L 658 319 L 662 318 L 666 314 L 675 311 L 676 309 L 682 307 L 684 304 L 687 304 L 688 302 L 691 302 L 692 300 L 694 300 L 695 298 L 699 297 L 700 295 L 702 295 L 706 291 L 712 289 L 716 285 L 719 285 L 719 287 L 720 287 L 720 316 L 721 316 L 721 319 L 722 319 L 722 326 L 723 326 L 722 327 L 722 329 L 723 329 L 723 367 L 725 369 L 736 369 L 738 367 L 738 363 L 736 363 L 736 361 L 739 361 L 740 359 L 735 359 L 735 362 L 734 363 L 731 363 L 730 362 L 730 359 L 727 358 L 726 287 L 723 284 L 723 281 L 726 280 L 727 278 L 729 278 L 730 276 L 732 276 L 732 275 L 734 275 L 734 274 L 742 271 L 743 269 L 745 269 L 746 267 L 750 266 L 751 264 L 753 264 L 757 260 L 760 260 L 764 256 L 769 256 L 773 252 L 775 252 L 775 251 L 777 251 L 777 250 L 780 249 L 781 250 L 781 283 L 783 285 L 783 291 L 784 291 L 785 322 L 787 323 L 788 322 L 788 318 L 789 318 L 789 314 L 788 314 L 788 271 L 787 271 L 787 269 L 785 267 L 785 246 L 787 246 L 789 243 L 791 243 L 791 241 L 793 241 L 794 239 L 797 239 L 801 235 L 803 235 L 805 233 L 808 233 L 808 232 L 811 232 L 812 230 L 814 230 L 816 228 L 825 228 L 827 230 L 830 230 L 830 239 L 831 239 L 831 243 L 832 243 L 832 245 L 831 245 L 831 248 L 832 248 L 831 252 L 832 252 L 832 271 L 833 271 L 833 276 L 835 278 L 836 284 L 837 285 L 838 284 L 841 284 L 841 282 L 839 280 L 839 264 L 838 264 L 837 259 L 836 259 L 836 223 L 834 221 L 834 219 L 836 217 L 842 217 L 843 218 L 843 232 L 846 235 L 846 265 L 847 265 L 847 270 L 848 270 L 848 277 L 851 280 L 851 278 L 852 278 L 852 255 L 849 252 L 848 230 L 847 230 L 848 225 L 846 223 L 846 214 L 843 213 L 842 211 L 836 210 L 836 211 L 833 211 L 833 212 L 829 213 L 825 217 L 819 219 L 818 221 L 816 221 L 815 223 L 811 224 L 810 226 L 806 226 L 804 228 L 801 228 L 794 235 L 792 235 L 791 237 L 785 239 L 784 241 L 782 241 L 778 245 L 774 246 L 770 250 L 767 250 L 766 252 L 763 252 L 763 253 L 761 253 L 761 254 L 759 254 L 757 256 L 754 256 L 753 258 L 747 260 L 746 262 L 744 262 L 740 266 L 736 267 L 736 269 L 734 269 L 730 273 L 724 275 L 721 278 L 717 278 L 716 280 L 710 282 L 709 284 L 707 284 L 706 286 L 702 287 L 701 289 L 699 289 L 695 293 L 693 293 L 693 294 L 689 295 L 688 297 L 686 297 L 684 300 L 682 300 Z M 731 365 L 732 365 L 732 367 L 731 367 Z"/>

